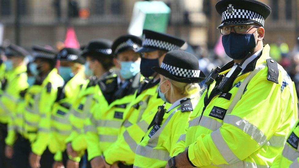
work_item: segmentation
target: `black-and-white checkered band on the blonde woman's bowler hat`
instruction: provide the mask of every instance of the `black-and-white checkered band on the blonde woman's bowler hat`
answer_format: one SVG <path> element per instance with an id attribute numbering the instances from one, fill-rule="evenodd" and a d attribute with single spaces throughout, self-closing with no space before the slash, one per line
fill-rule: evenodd
<path id="1" fill-rule="evenodd" d="M 200 70 L 183 69 L 172 65 L 167 65 L 162 62 L 161 68 L 167 70 L 169 73 L 179 77 L 199 77 Z"/>

